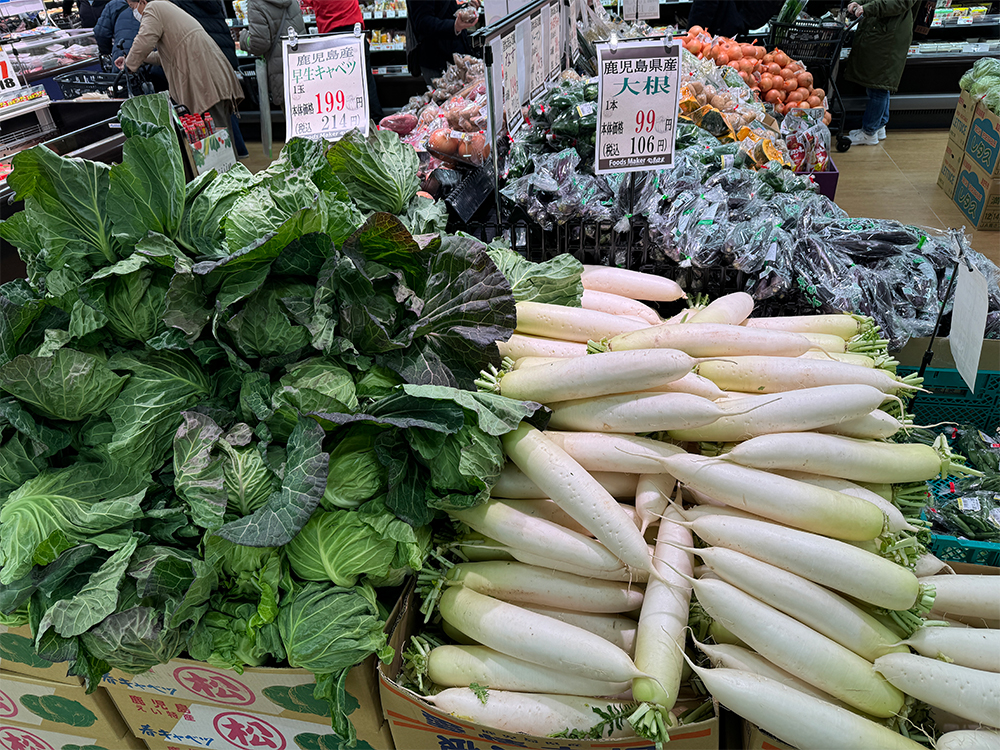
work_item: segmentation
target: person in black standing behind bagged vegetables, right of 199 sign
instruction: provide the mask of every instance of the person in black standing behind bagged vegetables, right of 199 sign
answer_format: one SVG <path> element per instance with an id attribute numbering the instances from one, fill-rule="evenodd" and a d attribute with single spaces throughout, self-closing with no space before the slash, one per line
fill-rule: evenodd
<path id="1" fill-rule="evenodd" d="M 428 86 L 444 75 L 444 69 L 456 53 L 472 54 L 469 29 L 479 22 L 475 12 L 478 8 L 478 2 L 470 2 L 463 5 L 463 12 L 459 13 L 455 0 L 409 0 L 406 3 L 409 28 L 416 42 L 413 54 Z"/>

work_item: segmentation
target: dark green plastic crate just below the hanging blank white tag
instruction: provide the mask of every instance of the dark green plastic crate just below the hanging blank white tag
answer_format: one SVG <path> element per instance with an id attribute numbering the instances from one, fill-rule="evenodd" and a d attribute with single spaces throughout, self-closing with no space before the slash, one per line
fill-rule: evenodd
<path id="1" fill-rule="evenodd" d="M 914 367 L 898 368 L 900 375 L 916 371 Z M 1000 372 L 980 372 L 973 393 L 957 370 L 928 367 L 924 388 L 930 393 L 917 393 L 910 406 L 915 424 L 956 422 L 974 424 L 985 431 L 1000 425 Z"/>

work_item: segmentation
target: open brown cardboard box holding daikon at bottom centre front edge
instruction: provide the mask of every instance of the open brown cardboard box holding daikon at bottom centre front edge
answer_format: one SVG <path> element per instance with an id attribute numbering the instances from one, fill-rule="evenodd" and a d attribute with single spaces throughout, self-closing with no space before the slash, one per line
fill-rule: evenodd
<path id="1" fill-rule="evenodd" d="M 396 684 L 401 654 L 409 641 L 416 620 L 412 592 L 406 596 L 400 609 L 389 643 L 396 649 L 392 665 L 379 666 L 379 684 L 382 691 L 382 708 L 392 730 L 392 739 L 401 750 L 499 750 L 500 748 L 527 748 L 527 750 L 653 750 L 649 740 L 640 737 L 604 739 L 595 741 L 533 737 L 527 734 L 506 732 L 459 719 L 439 711 L 421 699 L 417 693 Z M 697 724 L 678 727 L 670 733 L 670 750 L 718 750 L 718 714 Z"/>

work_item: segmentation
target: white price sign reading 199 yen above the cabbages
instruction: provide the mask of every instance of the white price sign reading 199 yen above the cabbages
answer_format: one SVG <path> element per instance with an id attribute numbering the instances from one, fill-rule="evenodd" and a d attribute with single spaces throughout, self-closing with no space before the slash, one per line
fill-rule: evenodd
<path id="1" fill-rule="evenodd" d="M 289 136 L 335 141 L 352 128 L 368 135 L 367 64 L 353 34 L 299 37 L 282 45 Z"/>

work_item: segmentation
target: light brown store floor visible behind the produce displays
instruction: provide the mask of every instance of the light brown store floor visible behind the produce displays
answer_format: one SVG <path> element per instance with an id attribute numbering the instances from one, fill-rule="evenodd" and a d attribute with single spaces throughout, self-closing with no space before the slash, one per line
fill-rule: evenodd
<path id="1" fill-rule="evenodd" d="M 851 216 L 897 219 L 930 227 L 960 227 L 967 222 L 937 186 L 946 130 L 890 130 L 878 146 L 834 152 L 840 170 L 836 201 Z M 247 168 L 256 172 L 270 161 L 260 143 L 248 143 Z M 274 144 L 274 155 L 281 151 Z M 969 232 L 972 246 L 1000 265 L 1000 232 Z"/>

